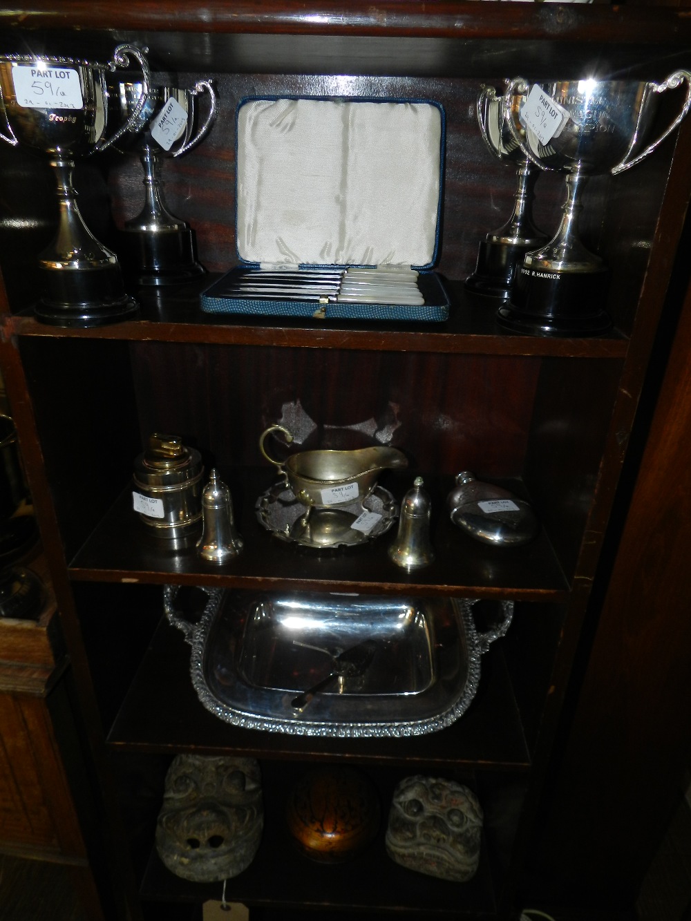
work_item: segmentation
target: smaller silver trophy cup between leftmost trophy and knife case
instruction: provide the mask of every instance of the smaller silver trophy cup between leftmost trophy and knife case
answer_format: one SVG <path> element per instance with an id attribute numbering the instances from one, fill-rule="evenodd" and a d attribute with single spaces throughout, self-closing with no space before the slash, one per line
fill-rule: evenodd
<path id="1" fill-rule="evenodd" d="M 205 272 L 196 259 L 192 229 L 170 214 L 161 170 L 164 159 L 182 157 L 208 134 L 216 117 L 216 93 L 208 80 L 200 80 L 192 89 L 153 82 L 135 132 L 118 145 L 140 158 L 146 192 L 141 212 L 124 225 L 122 256 L 125 271 L 134 275 L 137 284 L 161 286 L 180 284 Z M 113 81 L 111 106 L 120 118 L 131 115 L 140 93 L 141 86 L 134 81 Z M 200 122 L 198 100 L 203 94 L 209 102 Z"/>

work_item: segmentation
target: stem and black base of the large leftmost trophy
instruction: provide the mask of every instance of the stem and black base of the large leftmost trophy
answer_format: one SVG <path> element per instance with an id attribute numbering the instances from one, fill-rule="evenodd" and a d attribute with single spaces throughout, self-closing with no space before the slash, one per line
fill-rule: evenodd
<path id="1" fill-rule="evenodd" d="M 138 309 L 127 297 L 117 257 L 90 232 L 76 204 L 73 160 L 49 161 L 55 173 L 58 228 L 39 257 L 39 320 L 56 326 L 99 326 Z"/>

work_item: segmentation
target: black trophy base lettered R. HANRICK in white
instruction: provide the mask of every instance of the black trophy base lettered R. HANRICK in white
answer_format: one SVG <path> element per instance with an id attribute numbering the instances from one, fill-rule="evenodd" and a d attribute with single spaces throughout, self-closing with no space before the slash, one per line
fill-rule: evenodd
<path id="1" fill-rule="evenodd" d="M 541 336 L 596 336 L 612 327 L 602 308 L 609 272 L 544 272 L 521 268 L 511 301 L 497 311 L 511 332 Z"/>

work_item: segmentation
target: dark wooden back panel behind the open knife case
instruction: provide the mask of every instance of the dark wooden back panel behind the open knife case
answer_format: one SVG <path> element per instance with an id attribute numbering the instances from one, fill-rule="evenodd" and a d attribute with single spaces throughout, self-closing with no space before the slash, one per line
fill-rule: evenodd
<path id="1" fill-rule="evenodd" d="M 516 171 L 487 150 L 475 115 L 483 82 L 501 87 L 506 74 L 483 79 L 377 76 L 216 75 L 218 114 L 205 140 L 164 166 L 165 193 L 173 214 L 194 227 L 201 261 L 210 271 L 237 262 L 235 242 L 235 111 L 252 96 L 344 96 L 371 99 L 429 99 L 446 113 L 444 201 L 439 272 L 464 278 L 474 270 L 481 237 L 509 220 Z M 199 75 L 181 75 L 191 86 Z M 203 103 L 202 103 L 203 104 Z M 113 160 L 111 191 L 121 224 L 143 204 L 143 172 L 134 157 Z M 545 173 L 538 182 L 535 218 L 545 232 L 556 228 L 564 197 L 563 179 Z M 404 190 L 402 190 L 404 192 Z M 597 209 L 591 210 L 597 216 Z M 422 219 L 422 216 L 421 216 Z"/>

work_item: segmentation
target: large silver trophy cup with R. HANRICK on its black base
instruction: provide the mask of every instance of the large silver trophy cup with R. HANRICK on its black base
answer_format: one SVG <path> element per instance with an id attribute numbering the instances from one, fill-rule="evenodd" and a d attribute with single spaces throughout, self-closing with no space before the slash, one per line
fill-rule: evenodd
<path id="1" fill-rule="evenodd" d="M 684 82 L 681 111 L 649 143 L 660 94 Z M 603 309 L 609 273 L 580 240 L 582 190 L 591 176 L 635 166 L 673 132 L 691 106 L 691 74 L 679 70 L 660 84 L 586 79 L 531 86 L 516 77 L 503 99 L 509 130 L 526 157 L 566 173 L 567 201 L 555 238 L 526 254 L 498 322 L 538 335 L 606 332 L 612 325 Z"/>

